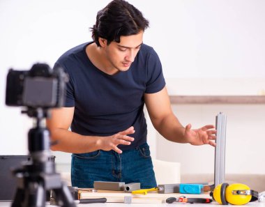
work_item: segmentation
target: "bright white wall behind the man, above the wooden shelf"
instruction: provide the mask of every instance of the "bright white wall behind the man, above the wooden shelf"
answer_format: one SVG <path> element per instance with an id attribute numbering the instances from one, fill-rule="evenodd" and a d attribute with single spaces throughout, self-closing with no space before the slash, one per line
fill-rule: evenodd
<path id="1" fill-rule="evenodd" d="M 36 62 L 52 66 L 67 49 L 91 40 L 89 27 L 108 2 L 0 0 L 0 154 L 27 153 L 31 128 L 21 109 L 4 104 L 8 68 L 25 70 Z M 160 55 L 164 75 L 171 79 L 169 87 L 174 88 L 172 79 L 179 78 L 265 78 L 265 1 L 129 2 L 150 21 L 144 43 Z M 189 82 L 178 93 L 195 88 Z"/>

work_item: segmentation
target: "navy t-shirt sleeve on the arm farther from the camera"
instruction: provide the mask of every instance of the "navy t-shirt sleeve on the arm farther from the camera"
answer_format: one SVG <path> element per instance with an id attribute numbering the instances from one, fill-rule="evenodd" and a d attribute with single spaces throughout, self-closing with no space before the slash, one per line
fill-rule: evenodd
<path id="1" fill-rule="evenodd" d="M 162 65 L 158 54 L 152 49 L 147 60 L 147 83 L 145 93 L 156 93 L 165 87 Z"/>

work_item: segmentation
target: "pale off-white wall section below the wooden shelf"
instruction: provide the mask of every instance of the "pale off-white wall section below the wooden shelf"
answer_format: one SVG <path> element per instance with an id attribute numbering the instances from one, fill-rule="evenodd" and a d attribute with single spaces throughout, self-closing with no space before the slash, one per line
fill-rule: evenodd
<path id="1" fill-rule="evenodd" d="M 227 115 L 227 174 L 264 174 L 265 105 L 174 105 L 174 113 L 183 125 L 199 128 L 215 123 L 219 112 Z M 213 173 L 214 148 L 175 144 L 156 136 L 157 158 L 181 162 L 181 174 Z"/>

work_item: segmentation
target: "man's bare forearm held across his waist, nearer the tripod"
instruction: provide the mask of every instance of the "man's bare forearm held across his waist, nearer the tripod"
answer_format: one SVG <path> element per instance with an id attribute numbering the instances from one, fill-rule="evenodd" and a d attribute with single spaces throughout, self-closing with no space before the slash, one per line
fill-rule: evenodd
<path id="1" fill-rule="evenodd" d="M 52 130 L 52 141 L 56 141 L 52 151 L 63 151 L 66 153 L 89 153 L 100 149 L 100 138 L 83 136 L 65 129 Z"/>

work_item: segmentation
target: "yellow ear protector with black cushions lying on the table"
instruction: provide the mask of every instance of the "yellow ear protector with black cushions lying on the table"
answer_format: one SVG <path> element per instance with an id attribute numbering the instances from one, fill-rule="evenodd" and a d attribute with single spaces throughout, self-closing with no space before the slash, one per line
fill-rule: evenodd
<path id="1" fill-rule="evenodd" d="M 215 187 L 210 193 L 211 197 L 222 205 L 243 205 L 250 201 L 257 201 L 259 193 L 255 190 L 250 190 L 248 185 L 241 183 L 221 183 Z"/>

